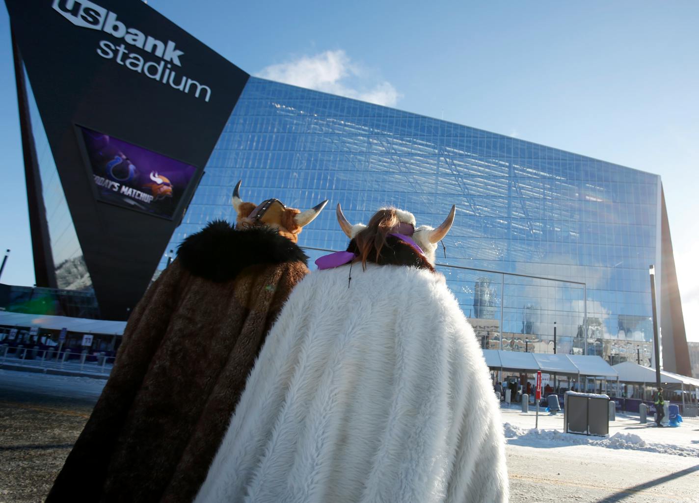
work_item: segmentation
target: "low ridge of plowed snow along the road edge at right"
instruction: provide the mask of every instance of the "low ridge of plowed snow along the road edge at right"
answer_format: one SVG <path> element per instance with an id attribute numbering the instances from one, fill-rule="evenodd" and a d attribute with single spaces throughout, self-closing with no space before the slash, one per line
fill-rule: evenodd
<path id="1" fill-rule="evenodd" d="M 505 423 L 505 438 L 510 444 L 528 447 L 565 447 L 589 445 L 607 449 L 630 449 L 661 454 L 672 454 L 699 458 L 699 449 L 675 444 L 654 444 L 633 433 L 616 433 L 612 437 L 594 437 L 562 433 L 559 430 L 535 430 Z"/>

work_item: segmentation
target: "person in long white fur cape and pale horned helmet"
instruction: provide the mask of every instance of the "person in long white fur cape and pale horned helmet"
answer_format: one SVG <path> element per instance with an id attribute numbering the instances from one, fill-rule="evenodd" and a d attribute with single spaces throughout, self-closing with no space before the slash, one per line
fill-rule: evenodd
<path id="1" fill-rule="evenodd" d="M 291 292 L 197 503 L 500 503 L 498 403 L 433 268 L 436 229 L 382 208 Z M 344 265 L 343 265 L 344 264 Z"/>

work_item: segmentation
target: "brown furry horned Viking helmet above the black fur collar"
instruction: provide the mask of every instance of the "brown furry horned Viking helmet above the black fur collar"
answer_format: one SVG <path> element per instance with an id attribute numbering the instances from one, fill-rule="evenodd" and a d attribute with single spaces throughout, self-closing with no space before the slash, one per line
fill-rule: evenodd
<path id="1" fill-rule="evenodd" d="M 301 232 L 301 228 L 310 224 L 328 203 L 326 199 L 304 212 L 296 210 L 296 208 L 286 207 L 281 201 L 274 198 L 255 205 L 254 203 L 243 202 L 240 198 L 239 190 L 242 182 L 243 180 L 240 180 L 236 184 L 236 188 L 233 189 L 233 208 L 238 214 L 236 228 L 264 225 L 277 229 L 280 235 L 293 242 L 298 240 L 298 233 Z"/>

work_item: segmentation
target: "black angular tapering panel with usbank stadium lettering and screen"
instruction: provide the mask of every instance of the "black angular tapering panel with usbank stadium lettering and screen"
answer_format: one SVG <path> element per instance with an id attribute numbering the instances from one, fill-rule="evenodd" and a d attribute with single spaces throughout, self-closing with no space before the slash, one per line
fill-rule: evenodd
<path id="1" fill-rule="evenodd" d="M 6 0 L 6 6 L 102 315 L 124 319 L 249 75 L 140 0 Z M 89 160 L 96 159 L 96 143 L 87 145 L 85 131 L 114 147 L 102 152 L 113 158 L 101 167 Z M 96 171 L 110 163 L 120 163 L 109 168 L 112 178 Z M 118 177 L 131 168 L 138 178 L 122 183 Z M 159 170 L 178 180 L 177 201 L 170 197 L 174 186 L 168 196 L 173 181 Z M 118 182 L 124 192 L 106 194 L 98 182 L 101 189 Z"/>

